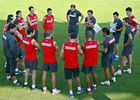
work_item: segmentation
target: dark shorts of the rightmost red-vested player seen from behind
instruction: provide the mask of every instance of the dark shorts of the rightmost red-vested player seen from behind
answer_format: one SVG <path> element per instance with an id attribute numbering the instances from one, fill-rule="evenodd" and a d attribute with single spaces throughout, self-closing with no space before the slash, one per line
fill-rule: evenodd
<path id="1" fill-rule="evenodd" d="M 91 71 L 91 74 L 94 74 L 96 73 L 96 70 L 97 70 L 97 65 L 92 66 L 92 67 L 85 66 L 85 65 L 82 66 L 82 72 L 85 74 L 89 74 L 90 71 Z"/>

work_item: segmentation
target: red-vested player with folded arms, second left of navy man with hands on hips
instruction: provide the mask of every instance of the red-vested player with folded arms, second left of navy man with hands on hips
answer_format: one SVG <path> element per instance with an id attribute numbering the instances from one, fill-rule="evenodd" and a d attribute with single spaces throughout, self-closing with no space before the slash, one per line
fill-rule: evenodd
<path id="1" fill-rule="evenodd" d="M 32 27 L 35 29 L 35 35 L 33 38 L 37 41 L 38 39 L 38 29 L 37 25 L 39 24 L 39 19 L 36 14 L 34 14 L 34 7 L 29 7 L 30 14 L 27 16 L 28 28 Z"/>

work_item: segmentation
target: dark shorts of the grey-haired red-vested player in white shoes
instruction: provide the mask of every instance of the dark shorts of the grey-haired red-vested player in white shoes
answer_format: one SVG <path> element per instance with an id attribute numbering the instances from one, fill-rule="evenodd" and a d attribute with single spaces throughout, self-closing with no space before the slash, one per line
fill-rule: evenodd
<path id="1" fill-rule="evenodd" d="M 45 62 L 43 62 L 43 71 L 49 71 L 51 70 L 51 72 L 57 72 L 58 71 L 58 64 L 57 62 L 53 63 L 53 64 L 47 64 Z"/>

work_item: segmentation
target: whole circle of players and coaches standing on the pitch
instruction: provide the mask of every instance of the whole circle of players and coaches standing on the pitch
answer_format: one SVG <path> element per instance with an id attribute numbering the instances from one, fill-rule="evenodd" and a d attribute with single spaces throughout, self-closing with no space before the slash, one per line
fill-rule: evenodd
<path id="1" fill-rule="evenodd" d="M 119 19 L 118 12 L 113 13 L 114 23 L 116 24 L 116 29 L 113 29 L 115 32 L 113 36 L 110 35 L 110 31 L 108 28 L 102 29 L 103 37 L 106 39 L 103 43 L 98 43 L 94 41 L 95 31 L 94 24 L 96 23 L 96 19 L 93 16 L 93 11 L 88 10 L 88 16 L 85 18 L 85 38 L 87 40 L 86 43 L 83 43 L 80 47 L 79 39 L 77 38 L 77 34 L 79 31 L 79 24 L 82 22 L 84 15 L 75 9 L 75 5 L 70 6 L 70 10 L 68 10 L 66 14 L 66 18 L 68 21 L 68 42 L 64 43 L 60 52 L 60 58 L 64 60 L 64 72 L 65 79 L 68 82 L 69 92 L 67 95 L 71 98 L 74 97 L 72 91 L 72 75 L 76 79 L 77 83 L 77 94 L 81 94 L 84 89 L 81 88 L 80 78 L 79 78 L 79 64 L 78 64 L 78 53 L 80 55 L 84 54 L 82 72 L 85 73 L 85 82 L 87 84 L 86 92 L 91 94 L 90 88 L 90 80 L 89 73 L 91 71 L 93 78 L 93 90 L 96 90 L 96 70 L 97 70 L 97 59 L 98 59 L 98 51 L 102 53 L 101 67 L 104 68 L 106 81 L 101 82 L 103 85 L 110 85 L 109 81 L 109 72 L 108 68 L 111 70 L 113 82 L 116 82 L 115 75 L 121 75 L 122 68 L 128 59 L 127 70 L 124 72 L 131 73 L 131 64 L 132 64 L 132 51 L 134 45 L 134 38 L 138 35 L 139 25 L 136 21 L 136 18 L 132 15 L 132 9 L 130 7 L 126 8 L 126 13 L 128 17 L 123 19 L 123 22 Z M 37 69 L 39 68 L 38 57 L 36 51 L 40 51 L 40 46 L 37 43 L 38 40 L 38 29 L 37 25 L 39 24 L 39 19 L 36 14 L 34 14 L 34 7 L 29 7 L 30 14 L 27 16 L 28 29 L 27 35 L 25 32 L 25 28 L 27 24 L 22 17 L 22 12 L 16 12 L 16 19 L 13 22 L 13 15 L 9 15 L 7 19 L 7 23 L 4 26 L 3 31 L 3 47 L 4 54 L 6 57 L 6 75 L 7 80 L 13 79 L 13 84 L 19 85 L 22 82 L 16 79 L 16 73 L 18 73 L 18 64 L 17 61 L 20 59 L 20 64 L 23 68 L 23 74 L 25 75 L 24 88 L 29 86 L 28 77 L 30 75 L 30 70 L 32 70 L 32 88 L 31 90 L 39 90 L 40 88 L 35 85 L 36 83 L 36 75 Z M 42 21 L 42 26 L 44 28 L 44 39 L 41 41 L 41 46 L 44 52 L 43 57 L 43 75 L 42 75 L 42 83 L 43 83 L 43 93 L 47 92 L 46 87 L 46 76 L 48 71 L 51 71 L 52 75 L 52 95 L 58 94 L 61 90 L 56 89 L 56 73 L 58 71 L 58 64 L 55 57 L 55 52 L 59 51 L 59 47 L 57 46 L 57 42 L 53 41 L 53 21 L 54 16 L 52 15 L 52 9 L 47 9 L 47 15 L 44 16 Z M 79 21 L 79 16 L 81 19 Z M 121 55 L 121 64 L 119 70 L 115 73 L 113 68 L 113 60 L 119 60 L 118 54 L 118 43 L 121 36 L 121 31 L 123 31 L 123 25 L 126 27 L 126 31 L 124 34 L 124 47 Z M 25 65 L 24 58 L 22 52 L 22 43 L 24 45 L 25 50 Z M 98 49 L 99 45 L 103 45 L 103 50 Z M 114 48 L 116 54 L 113 55 Z M 26 69 L 25 69 L 26 68 Z M 11 75 L 10 75 L 11 74 Z"/>

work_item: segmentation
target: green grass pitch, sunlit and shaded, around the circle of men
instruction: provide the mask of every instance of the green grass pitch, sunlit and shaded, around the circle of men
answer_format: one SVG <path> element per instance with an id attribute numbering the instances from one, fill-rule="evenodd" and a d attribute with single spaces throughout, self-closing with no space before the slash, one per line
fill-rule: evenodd
<path id="1" fill-rule="evenodd" d="M 42 19 L 46 14 L 46 9 L 51 7 L 53 9 L 53 15 L 55 17 L 54 22 L 54 40 L 57 41 L 59 48 L 64 42 L 67 42 L 67 28 L 68 24 L 66 22 L 66 12 L 69 9 L 71 4 L 75 4 L 76 8 L 80 10 L 85 16 L 87 16 L 86 11 L 92 9 L 94 11 L 94 16 L 97 19 L 97 23 L 103 27 L 109 27 L 109 22 L 113 22 L 112 13 L 118 11 L 120 18 L 126 17 L 125 8 L 130 6 L 133 8 L 133 14 L 136 16 L 138 22 L 140 23 L 140 1 L 139 0 L 0 0 L 0 32 L 3 31 L 3 25 L 6 22 L 7 15 L 9 13 L 14 14 L 16 10 L 21 10 L 23 17 L 25 18 L 29 11 L 29 6 L 35 7 L 35 13 L 38 15 L 40 24 L 38 25 L 39 30 L 39 44 L 43 38 L 43 28 L 42 28 Z M 83 25 L 84 21 L 80 24 L 79 28 L 79 38 L 80 44 L 85 42 L 84 33 L 85 27 Z M 124 28 L 125 30 L 125 28 Z M 123 48 L 123 34 L 122 32 L 120 44 L 119 44 L 119 54 Z M 2 34 L 0 34 L 2 37 Z M 104 71 L 100 67 L 101 65 L 101 53 L 98 57 L 98 69 L 97 69 L 97 90 L 93 91 L 92 94 L 88 95 L 87 93 L 82 93 L 81 95 L 76 94 L 76 83 L 73 79 L 73 90 L 75 98 L 73 100 L 140 100 L 140 47 L 139 47 L 139 38 L 140 35 L 134 40 L 135 46 L 133 50 L 133 63 L 132 63 L 132 74 L 123 73 L 122 76 L 117 76 L 117 82 L 111 83 L 111 86 L 102 86 L 100 85 L 101 81 L 105 80 Z M 101 32 L 96 34 L 96 41 L 102 42 L 105 38 L 102 37 Z M 99 47 L 102 49 L 102 47 Z M 60 52 L 59 52 L 60 53 Z M 43 100 L 43 99 L 59 99 L 67 100 L 70 99 L 66 93 L 68 92 L 67 81 L 64 79 L 64 62 L 59 58 L 59 53 L 56 53 L 58 61 L 58 73 L 57 73 L 57 88 L 62 90 L 61 94 L 52 96 L 51 95 L 51 73 L 48 73 L 47 76 L 47 94 L 43 94 L 42 91 L 32 92 L 30 89 L 24 89 L 22 86 L 13 86 L 12 81 L 6 81 L 6 75 L 4 70 L 5 57 L 3 55 L 3 47 L 0 44 L 0 99 L 1 100 Z M 37 73 L 37 85 L 42 87 L 42 65 L 43 65 L 43 53 L 38 53 L 40 56 L 39 61 L 39 70 Z M 81 70 L 81 65 L 83 62 L 83 56 L 79 56 L 79 65 Z M 115 70 L 117 70 L 117 65 L 120 64 L 120 61 L 113 63 Z M 127 66 L 128 67 L 128 66 Z M 127 69 L 124 67 L 124 69 Z M 19 66 L 21 69 L 21 67 Z M 23 75 L 17 75 L 17 79 L 24 81 Z M 80 73 L 81 85 L 85 89 L 86 84 L 84 81 L 84 74 Z M 91 79 L 91 77 L 90 77 Z M 29 83 L 31 84 L 31 77 L 29 77 Z M 92 81 L 91 81 L 92 83 Z"/>

